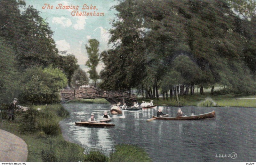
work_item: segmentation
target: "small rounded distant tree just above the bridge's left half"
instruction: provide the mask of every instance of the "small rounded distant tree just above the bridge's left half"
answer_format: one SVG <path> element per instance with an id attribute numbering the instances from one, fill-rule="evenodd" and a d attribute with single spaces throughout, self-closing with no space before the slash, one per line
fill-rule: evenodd
<path id="1" fill-rule="evenodd" d="M 89 80 L 84 70 L 78 68 L 72 76 L 71 82 L 74 87 L 79 88 L 81 85 L 87 85 Z"/>

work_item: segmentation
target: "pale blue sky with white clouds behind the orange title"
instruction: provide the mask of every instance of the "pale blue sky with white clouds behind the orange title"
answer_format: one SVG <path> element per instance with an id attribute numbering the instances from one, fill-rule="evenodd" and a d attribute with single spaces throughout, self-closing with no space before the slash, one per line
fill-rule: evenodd
<path id="1" fill-rule="evenodd" d="M 35 9 L 41 11 L 40 16 L 46 19 L 49 27 L 54 32 L 53 39 L 58 50 L 74 54 L 83 70 L 88 71 L 84 64 L 88 60 L 85 44 L 88 44 L 89 39 L 97 39 L 100 42 L 99 53 L 111 48 L 107 44 L 110 37 L 108 30 L 112 27 L 110 20 L 115 18 L 116 11 L 114 9 L 110 10 L 110 8 L 117 4 L 117 1 L 25 0 L 25 2 L 27 6 L 32 5 Z M 89 12 L 89 14 L 95 12 L 96 16 L 76 16 L 77 12 L 78 14 L 80 12 L 81 14 L 83 12 L 84 14 L 85 12 Z M 104 16 L 97 16 L 97 13 L 104 13 Z M 102 68 L 103 64 L 100 62 L 97 72 L 99 73 Z"/>

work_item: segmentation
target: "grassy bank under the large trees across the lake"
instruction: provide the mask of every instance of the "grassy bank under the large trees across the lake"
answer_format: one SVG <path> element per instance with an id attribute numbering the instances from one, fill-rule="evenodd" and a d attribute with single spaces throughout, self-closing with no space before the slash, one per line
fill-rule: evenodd
<path id="1" fill-rule="evenodd" d="M 220 95 L 220 96 L 212 96 L 210 94 L 204 94 L 204 95 L 194 95 L 194 96 L 186 96 L 186 97 L 180 97 L 180 102 L 182 105 L 194 105 L 197 106 L 198 103 L 203 101 L 206 97 L 211 97 L 216 103 L 216 106 L 229 106 L 229 107 L 256 107 L 256 100 L 255 99 L 237 99 L 237 98 L 255 98 L 256 96 L 246 96 L 246 97 L 236 97 L 234 95 Z M 141 101 L 150 101 L 151 99 L 139 99 L 139 102 Z M 177 106 L 178 103 L 176 101 L 175 97 L 172 97 L 172 100 L 170 97 L 168 98 L 168 101 L 163 98 L 159 98 L 158 100 L 153 99 L 154 104 L 159 105 L 173 105 Z"/>

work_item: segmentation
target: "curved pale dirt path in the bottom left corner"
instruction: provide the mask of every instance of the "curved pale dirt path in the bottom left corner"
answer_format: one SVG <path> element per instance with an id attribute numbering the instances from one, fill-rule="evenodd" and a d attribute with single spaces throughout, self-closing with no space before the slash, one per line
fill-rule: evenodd
<path id="1" fill-rule="evenodd" d="M 18 136 L 0 129 L 0 162 L 25 162 L 28 146 Z"/>

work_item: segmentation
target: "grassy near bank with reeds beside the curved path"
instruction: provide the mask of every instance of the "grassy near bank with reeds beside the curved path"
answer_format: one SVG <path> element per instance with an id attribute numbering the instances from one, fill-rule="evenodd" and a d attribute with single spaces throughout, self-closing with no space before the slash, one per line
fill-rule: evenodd
<path id="1" fill-rule="evenodd" d="M 109 157 L 95 150 L 84 154 L 83 147 L 62 137 L 59 122 L 68 116 L 68 111 L 61 104 L 32 106 L 28 111 L 19 113 L 15 121 L 1 119 L 0 129 L 19 136 L 27 143 L 29 162 L 151 161 L 142 148 L 127 144 L 116 145 L 115 152 Z"/>

